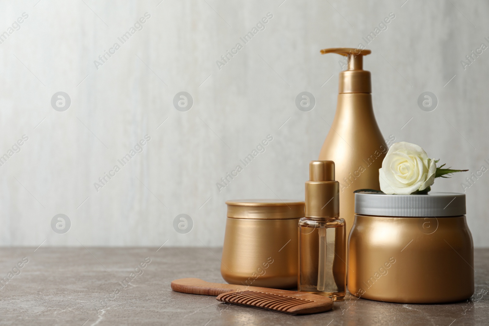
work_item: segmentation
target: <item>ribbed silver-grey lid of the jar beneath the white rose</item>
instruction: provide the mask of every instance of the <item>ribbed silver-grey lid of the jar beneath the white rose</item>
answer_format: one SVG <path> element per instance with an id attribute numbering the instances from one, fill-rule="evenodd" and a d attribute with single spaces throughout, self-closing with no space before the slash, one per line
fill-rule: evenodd
<path id="1" fill-rule="evenodd" d="M 399 217 L 444 217 L 466 214 L 465 194 L 386 195 L 355 193 L 355 214 Z"/>

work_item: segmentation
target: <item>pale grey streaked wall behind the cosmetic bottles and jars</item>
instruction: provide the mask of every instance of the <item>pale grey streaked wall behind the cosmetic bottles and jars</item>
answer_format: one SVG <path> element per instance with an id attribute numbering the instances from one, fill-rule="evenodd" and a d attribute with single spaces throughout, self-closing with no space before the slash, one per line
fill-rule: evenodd
<path id="1" fill-rule="evenodd" d="M 384 137 L 454 168 L 489 168 L 489 50 L 461 65 L 489 45 L 487 1 L 37 1 L 0 5 L 0 33 L 28 14 L 0 44 L 0 155 L 29 137 L 0 167 L 0 245 L 221 246 L 225 200 L 303 199 L 341 70 L 342 57 L 319 50 L 365 44 L 391 12 L 364 63 Z M 268 12 L 266 29 L 219 69 Z M 58 91 L 71 98 L 67 111 L 50 105 Z M 194 99 L 187 112 L 173 107 L 180 91 Z M 302 91 L 316 98 L 309 112 L 295 106 Z M 432 112 L 417 105 L 424 91 L 438 97 Z M 94 182 L 146 134 L 143 152 L 97 192 Z M 219 192 L 221 177 L 268 134 L 266 152 Z M 463 192 L 467 176 L 432 188 Z M 466 194 L 474 244 L 489 246 L 489 172 Z M 56 214 L 70 218 L 67 233 L 51 229 Z M 174 230 L 178 214 L 192 217 L 191 232 Z"/>

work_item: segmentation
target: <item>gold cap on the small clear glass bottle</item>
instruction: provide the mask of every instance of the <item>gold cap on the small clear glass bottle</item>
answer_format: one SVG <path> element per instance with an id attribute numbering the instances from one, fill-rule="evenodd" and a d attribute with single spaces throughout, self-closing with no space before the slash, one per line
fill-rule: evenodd
<path id="1" fill-rule="evenodd" d="M 311 161 L 306 181 L 305 217 L 339 217 L 339 182 L 334 180 L 333 161 Z"/>

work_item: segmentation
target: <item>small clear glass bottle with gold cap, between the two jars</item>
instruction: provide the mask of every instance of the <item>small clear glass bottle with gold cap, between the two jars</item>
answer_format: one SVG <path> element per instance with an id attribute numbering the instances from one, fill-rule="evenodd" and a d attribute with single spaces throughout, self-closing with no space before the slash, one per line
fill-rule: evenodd
<path id="1" fill-rule="evenodd" d="M 339 217 L 339 182 L 334 180 L 333 161 L 311 161 L 305 201 L 305 217 L 299 220 L 298 289 L 342 300 L 346 224 Z"/>

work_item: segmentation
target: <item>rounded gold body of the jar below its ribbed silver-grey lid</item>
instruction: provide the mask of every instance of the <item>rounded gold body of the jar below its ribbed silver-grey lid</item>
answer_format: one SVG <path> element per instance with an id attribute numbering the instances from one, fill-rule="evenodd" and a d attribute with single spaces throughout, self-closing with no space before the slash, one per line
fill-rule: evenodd
<path id="1" fill-rule="evenodd" d="M 432 304 L 474 293 L 473 242 L 465 216 L 356 215 L 348 290 L 364 299 Z"/>

